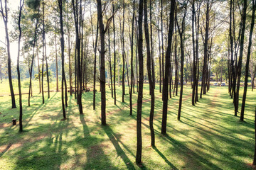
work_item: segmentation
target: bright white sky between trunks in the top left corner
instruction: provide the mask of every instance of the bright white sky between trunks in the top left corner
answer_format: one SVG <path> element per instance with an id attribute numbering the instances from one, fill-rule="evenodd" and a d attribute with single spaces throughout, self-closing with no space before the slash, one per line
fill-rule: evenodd
<path id="1" fill-rule="evenodd" d="M 4 3 L 4 1 L 3 1 L 3 3 Z M 8 31 L 10 33 L 11 30 L 13 30 L 13 27 L 12 27 L 13 19 L 11 18 L 11 14 L 18 9 L 19 0 L 9 0 L 7 6 L 8 6 L 8 8 L 10 8 L 10 11 L 8 14 L 8 19 L 9 19 Z M 3 7 L 4 7 L 4 4 L 3 4 Z M 3 42 L 6 42 L 6 34 L 5 34 L 4 21 L 3 21 L 2 16 L 0 19 L 0 40 L 1 40 L 0 47 L 6 47 L 6 45 L 4 45 L 4 43 L 3 43 Z M 11 62 L 14 62 L 14 64 L 16 64 L 17 55 L 18 55 L 18 40 L 11 42 L 10 51 L 11 51 Z"/>

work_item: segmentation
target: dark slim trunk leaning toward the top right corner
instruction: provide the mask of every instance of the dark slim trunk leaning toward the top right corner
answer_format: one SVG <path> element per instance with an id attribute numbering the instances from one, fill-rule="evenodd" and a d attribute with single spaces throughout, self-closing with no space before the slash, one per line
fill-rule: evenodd
<path id="1" fill-rule="evenodd" d="M 245 113 L 245 100 L 246 100 L 247 84 L 248 84 L 248 76 L 249 76 L 249 62 L 250 62 L 250 52 L 251 52 L 251 46 L 252 46 L 252 33 L 253 33 L 253 26 L 255 23 L 255 8 L 256 8 L 255 0 L 252 0 L 252 23 L 250 27 L 247 60 L 245 64 L 245 87 L 244 87 L 244 94 L 242 96 L 242 108 L 241 108 L 241 114 L 240 114 L 240 121 L 244 120 L 244 113 Z"/>

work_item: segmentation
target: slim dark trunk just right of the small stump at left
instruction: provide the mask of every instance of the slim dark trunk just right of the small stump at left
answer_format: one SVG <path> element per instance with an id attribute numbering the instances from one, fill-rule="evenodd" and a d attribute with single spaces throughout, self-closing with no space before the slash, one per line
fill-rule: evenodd
<path id="1" fill-rule="evenodd" d="M 19 106 L 20 106 L 20 111 L 19 111 L 19 132 L 23 131 L 23 126 L 22 126 L 22 94 L 21 94 L 21 73 L 19 69 L 19 57 L 20 57 L 20 45 L 21 45 L 21 11 L 22 7 L 24 4 L 24 0 L 20 0 L 20 9 L 19 9 L 19 15 L 18 15 L 18 57 L 17 57 L 17 74 L 18 74 L 18 96 L 19 96 Z"/>

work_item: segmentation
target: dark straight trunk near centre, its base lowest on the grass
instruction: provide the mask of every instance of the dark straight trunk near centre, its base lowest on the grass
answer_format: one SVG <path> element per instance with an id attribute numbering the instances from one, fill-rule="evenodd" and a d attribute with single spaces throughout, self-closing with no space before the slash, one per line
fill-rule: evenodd
<path id="1" fill-rule="evenodd" d="M 138 18 L 138 55 L 139 55 L 139 92 L 137 101 L 137 152 L 136 163 L 142 163 L 142 94 L 143 94 L 143 32 L 142 32 L 142 18 L 143 18 L 143 0 L 139 0 L 139 18 Z"/>

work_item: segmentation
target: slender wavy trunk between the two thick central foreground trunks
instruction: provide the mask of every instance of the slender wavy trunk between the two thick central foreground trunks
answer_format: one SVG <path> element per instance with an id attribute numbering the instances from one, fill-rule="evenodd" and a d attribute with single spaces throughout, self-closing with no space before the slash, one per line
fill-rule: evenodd
<path id="1" fill-rule="evenodd" d="M 149 76 L 149 91 L 151 94 L 151 108 L 150 108 L 150 115 L 149 115 L 149 128 L 150 128 L 150 134 L 151 134 L 151 146 L 155 146 L 155 136 L 154 136 L 154 126 L 153 126 L 153 120 L 154 120 L 154 81 L 153 77 L 151 75 L 151 52 L 150 52 L 150 44 L 149 44 L 149 26 L 147 23 L 147 6 L 146 6 L 146 0 L 144 0 L 144 32 L 145 32 L 145 40 L 146 40 L 146 67 L 147 72 Z M 152 70 L 153 72 L 153 70 Z"/>

